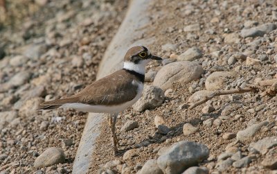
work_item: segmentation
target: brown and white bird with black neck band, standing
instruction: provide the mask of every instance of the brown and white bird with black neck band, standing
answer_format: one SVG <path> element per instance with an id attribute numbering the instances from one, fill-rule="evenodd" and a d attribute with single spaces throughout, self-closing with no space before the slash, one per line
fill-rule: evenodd
<path id="1" fill-rule="evenodd" d="M 39 104 L 37 110 L 73 108 L 81 112 L 109 114 L 109 127 L 114 142 L 114 153 L 118 153 L 116 119 L 141 98 L 143 93 L 145 66 L 152 60 L 162 60 L 145 46 L 133 46 L 124 56 L 123 69 L 100 78 L 73 96 Z"/>

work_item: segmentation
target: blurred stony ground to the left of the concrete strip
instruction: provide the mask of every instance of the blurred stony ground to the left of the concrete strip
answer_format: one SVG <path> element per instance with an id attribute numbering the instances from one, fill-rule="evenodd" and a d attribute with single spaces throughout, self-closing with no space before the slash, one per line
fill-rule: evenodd
<path id="1" fill-rule="evenodd" d="M 36 3 L 39 10 L 0 32 L 6 54 L 0 58 L 0 173 L 71 173 L 87 113 L 40 112 L 35 105 L 95 80 L 127 8 L 127 1 Z M 62 164 L 34 168 L 51 147 L 65 154 Z"/>

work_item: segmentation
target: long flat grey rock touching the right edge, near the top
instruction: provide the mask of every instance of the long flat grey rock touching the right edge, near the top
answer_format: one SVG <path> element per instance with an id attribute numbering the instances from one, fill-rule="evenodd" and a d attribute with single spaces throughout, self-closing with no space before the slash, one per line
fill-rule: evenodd
<path id="1" fill-rule="evenodd" d="M 263 24 L 249 29 L 242 29 L 240 35 L 242 37 L 263 36 L 271 31 L 274 31 L 276 28 L 277 28 L 277 25 L 273 23 Z"/>

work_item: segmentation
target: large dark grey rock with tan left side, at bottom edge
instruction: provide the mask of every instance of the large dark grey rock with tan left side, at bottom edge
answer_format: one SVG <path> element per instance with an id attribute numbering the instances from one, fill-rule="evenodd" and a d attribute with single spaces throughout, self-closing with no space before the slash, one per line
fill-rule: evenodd
<path id="1" fill-rule="evenodd" d="M 191 166 L 197 165 L 209 155 L 208 148 L 201 143 L 180 141 L 158 158 L 158 166 L 163 173 L 182 173 Z"/>

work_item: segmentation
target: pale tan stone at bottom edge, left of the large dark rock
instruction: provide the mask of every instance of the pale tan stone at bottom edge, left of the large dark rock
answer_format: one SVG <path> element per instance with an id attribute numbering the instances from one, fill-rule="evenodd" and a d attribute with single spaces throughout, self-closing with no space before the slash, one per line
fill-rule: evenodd
<path id="1" fill-rule="evenodd" d="M 161 168 L 157 164 L 157 159 L 149 159 L 139 171 L 139 174 L 163 174 Z"/>

